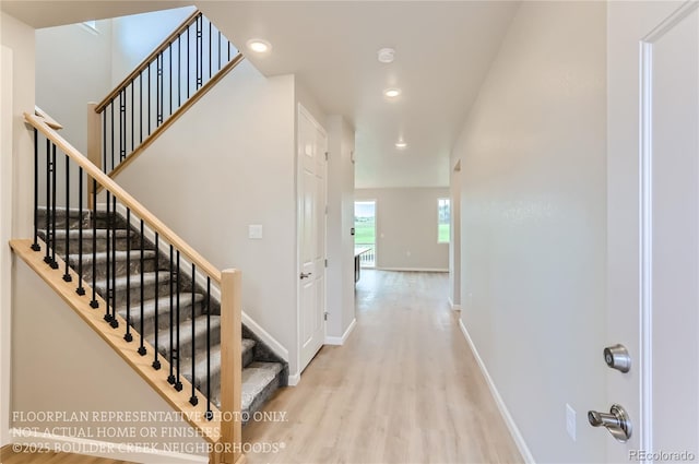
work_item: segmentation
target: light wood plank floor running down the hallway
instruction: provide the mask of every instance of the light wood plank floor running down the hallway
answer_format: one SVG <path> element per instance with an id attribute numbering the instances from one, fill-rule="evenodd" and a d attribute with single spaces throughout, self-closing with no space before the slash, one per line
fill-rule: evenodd
<path id="1" fill-rule="evenodd" d="M 249 462 L 522 462 L 447 287 L 442 273 L 363 271 L 357 326 L 244 428 Z"/>

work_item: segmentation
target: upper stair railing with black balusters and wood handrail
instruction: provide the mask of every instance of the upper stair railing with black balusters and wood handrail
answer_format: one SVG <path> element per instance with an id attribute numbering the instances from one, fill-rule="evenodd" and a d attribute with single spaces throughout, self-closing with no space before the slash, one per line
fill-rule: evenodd
<path id="1" fill-rule="evenodd" d="M 194 11 L 99 104 L 88 158 L 115 176 L 242 60 Z"/>

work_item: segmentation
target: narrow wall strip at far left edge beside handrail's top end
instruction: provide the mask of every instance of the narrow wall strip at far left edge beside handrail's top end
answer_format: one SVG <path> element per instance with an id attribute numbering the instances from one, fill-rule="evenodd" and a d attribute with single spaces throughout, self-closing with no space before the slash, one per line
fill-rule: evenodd
<path id="1" fill-rule="evenodd" d="M 0 197 L 2 224 L 0 225 L 0 445 L 10 437 L 12 275 L 11 237 L 31 237 L 33 226 L 33 159 L 34 142 L 24 126 L 24 111 L 34 109 L 34 29 L 14 17 L 1 13 L 0 37 L 2 41 L 2 129 L 0 130 Z M 11 61 L 11 68 L 7 66 Z M 8 95 L 11 94 L 11 95 Z M 31 288 L 31 287 L 27 287 Z M 21 334 L 14 334 L 21 336 Z"/>

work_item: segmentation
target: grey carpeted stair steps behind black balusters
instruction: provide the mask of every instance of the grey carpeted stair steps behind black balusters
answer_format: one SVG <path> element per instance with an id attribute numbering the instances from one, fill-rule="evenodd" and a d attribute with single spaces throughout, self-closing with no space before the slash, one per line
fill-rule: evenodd
<path id="1" fill-rule="evenodd" d="M 83 279 L 92 282 L 94 273 L 97 294 L 105 300 L 109 295 L 116 298 L 116 312 L 130 321 L 131 337 L 143 335 L 173 366 L 173 376 L 179 366 L 182 377 L 221 407 L 221 301 L 192 283 L 181 267 L 178 273 L 176 260 L 157 250 L 139 229 L 128 227 L 123 216 L 106 211 L 95 216 L 57 207 L 56 253 L 67 255 L 69 266 L 78 273 L 81 250 Z M 45 225 L 47 219 L 50 230 L 54 217 L 39 207 L 38 224 Z M 52 242 L 46 228 L 39 228 L 38 236 Z M 170 320 L 175 325 L 169 325 Z M 173 333 L 180 334 L 179 347 Z M 279 386 L 287 384 L 288 365 L 245 325 L 242 334 L 241 419 L 247 424 Z"/>

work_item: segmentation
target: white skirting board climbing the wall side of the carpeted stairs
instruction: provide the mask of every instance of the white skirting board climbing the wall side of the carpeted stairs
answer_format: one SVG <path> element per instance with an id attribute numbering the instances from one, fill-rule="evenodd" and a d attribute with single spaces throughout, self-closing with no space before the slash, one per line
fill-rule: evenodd
<path id="1" fill-rule="evenodd" d="M 107 205 L 102 203 L 98 205 L 98 207 L 100 210 L 106 210 Z M 117 214 L 119 214 L 121 217 L 123 217 L 126 219 L 127 217 L 127 209 L 126 206 L 123 206 L 121 203 L 117 204 Z M 141 219 L 135 217 L 135 216 L 131 216 L 131 226 L 134 227 L 137 230 L 141 227 Z M 151 242 L 155 243 L 155 231 L 149 227 L 147 224 L 143 225 L 143 236 L 149 239 Z M 166 243 L 164 240 L 159 240 L 158 241 L 158 250 L 161 253 L 168 255 L 169 254 L 169 245 Z M 189 278 L 192 278 L 192 273 L 191 273 L 191 263 L 189 261 L 187 261 L 187 259 L 185 257 L 182 257 L 180 259 L 181 264 L 180 265 L 180 272 L 186 275 Z M 198 272 L 197 275 L 194 276 L 194 282 L 202 288 L 206 288 L 206 276 L 204 276 L 202 273 Z M 211 286 L 211 297 L 216 300 L 216 301 L 221 301 L 221 289 L 218 287 L 216 287 L 215 285 Z M 246 324 L 248 326 L 248 329 L 250 329 L 258 337 L 260 337 L 260 340 L 270 348 L 272 349 L 277 356 L 280 356 L 282 359 L 284 359 L 285 361 L 288 362 L 288 349 L 286 349 L 281 343 L 279 343 L 272 335 L 269 334 L 269 332 L 266 332 L 264 329 L 262 329 L 262 326 L 260 324 L 258 324 L 257 322 L 254 322 L 254 320 L 252 318 L 250 318 L 245 310 L 242 310 L 242 314 L 241 314 L 241 319 L 242 319 L 242 323 Z"/>

